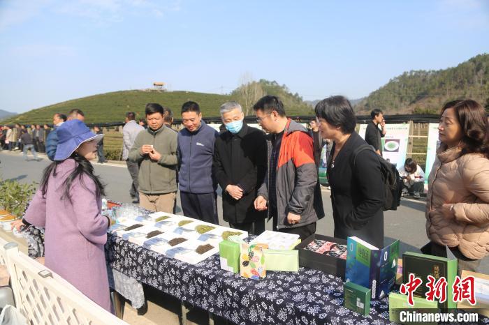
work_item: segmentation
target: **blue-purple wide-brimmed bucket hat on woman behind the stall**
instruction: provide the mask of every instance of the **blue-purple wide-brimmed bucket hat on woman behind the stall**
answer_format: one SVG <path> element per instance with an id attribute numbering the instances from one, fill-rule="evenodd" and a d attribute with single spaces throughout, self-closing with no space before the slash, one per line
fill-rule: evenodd
<path id="1" fill-rule="evenodd" d="M 66 121 L 56 129 L 58 146 L 54 160 L 65 160 L 83 143 L 100 141 L 103 135 L 96 135 L 80 120 Z"/>

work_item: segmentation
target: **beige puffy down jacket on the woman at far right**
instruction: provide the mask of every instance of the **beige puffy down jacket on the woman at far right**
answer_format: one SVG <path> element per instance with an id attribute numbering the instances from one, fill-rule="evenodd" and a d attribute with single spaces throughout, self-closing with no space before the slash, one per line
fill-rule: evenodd
<path id="1" fill-rule="evenodd" d="M 428 238 L 482 259 L 489 252 L 489 159 L 478 153 L 460 156 L 460 147 L 444 149 L 428 177 Z"/>

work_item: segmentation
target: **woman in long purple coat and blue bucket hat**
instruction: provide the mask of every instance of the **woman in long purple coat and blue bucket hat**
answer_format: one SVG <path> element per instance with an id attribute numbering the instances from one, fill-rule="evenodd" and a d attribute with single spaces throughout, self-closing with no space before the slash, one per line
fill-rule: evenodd
<path id="1" fill-rule="evenodd" d="M 46 167 L 24 222 L 45 228 L 45 266 L 111 311 L 104 250 L 110 220 L 101 215 L 103 184 L 89 162 L 103 135 L 79 120 L 63 123 L 57 134 L 54 162 Z"/>

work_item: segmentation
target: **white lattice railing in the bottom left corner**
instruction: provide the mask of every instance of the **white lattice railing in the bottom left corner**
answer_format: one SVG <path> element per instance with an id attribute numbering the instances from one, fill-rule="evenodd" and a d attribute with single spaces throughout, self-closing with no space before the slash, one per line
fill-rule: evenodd
<path id="1" fill-rule="evenodd" d="M 127 324 L 69 282 L 0 239 L 0 262 L 10 273 L 15 307 L 31 324 Z"/>

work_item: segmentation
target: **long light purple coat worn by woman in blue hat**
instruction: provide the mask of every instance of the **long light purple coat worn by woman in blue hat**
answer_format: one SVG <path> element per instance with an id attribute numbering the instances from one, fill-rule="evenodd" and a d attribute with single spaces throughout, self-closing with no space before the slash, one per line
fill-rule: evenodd
<path id="1" fill-rule="evenodd" d="M 111 311 L 104 244 L 108 219 L 101 215 L 101 199 L 87 175 L 73 180 L 71 199 L 61 200 L 63 183 L 75 169 L 68 158 L 50 175 L 43 198 L 41 188 L 29 204 L 24 219 L 45 228 L 45 266 L 70 282 L 83 294 Z"/>

